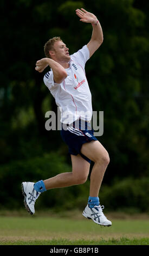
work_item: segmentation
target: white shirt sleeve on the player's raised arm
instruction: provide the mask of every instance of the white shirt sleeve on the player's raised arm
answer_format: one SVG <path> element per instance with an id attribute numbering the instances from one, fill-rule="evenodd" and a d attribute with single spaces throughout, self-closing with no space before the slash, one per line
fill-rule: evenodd
<path id="1" fill-rule="evenodd" d="M 75 52 L 70 56 L 72 59 L 85 66 L 87 60 L 89 59 L 89 50 L 87 45 L 83 46 L 79 51 Z"/>

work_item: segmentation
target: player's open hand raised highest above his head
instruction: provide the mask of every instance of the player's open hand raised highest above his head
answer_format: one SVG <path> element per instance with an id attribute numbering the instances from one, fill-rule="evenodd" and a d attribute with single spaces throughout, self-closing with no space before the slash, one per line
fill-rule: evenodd
<path id="1" fill-rule="evenodd" d="M 76 11 L 76 15 L 81 18 L 80 21 L 82 22 L 95 24 L 98 21 L 97 17 L 94 14 L 89 13 L 83 8 L 81 8 L 81 10 L 76 9 L 75 11 Z"/>

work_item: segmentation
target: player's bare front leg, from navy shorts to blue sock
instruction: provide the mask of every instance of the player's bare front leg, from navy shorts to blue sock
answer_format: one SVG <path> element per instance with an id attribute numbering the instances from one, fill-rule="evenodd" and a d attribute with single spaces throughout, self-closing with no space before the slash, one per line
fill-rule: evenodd
<path id="1" fill-rule="evenodd" d="M 82 145 L 81 153 L 94 162 L 90 175 L 90 197 L 98 197 L 103 176 L 109 163 L 106 149 L 99 141 L 92 141 Z"/>

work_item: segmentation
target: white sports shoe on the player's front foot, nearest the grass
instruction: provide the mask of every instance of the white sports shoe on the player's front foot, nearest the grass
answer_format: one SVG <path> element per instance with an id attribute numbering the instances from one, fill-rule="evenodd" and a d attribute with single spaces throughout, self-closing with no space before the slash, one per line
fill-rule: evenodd
<path id="1" fill-rule="evenodd" d="M 102 212 L 103 209 L 103 205 L 95 205 L 94 208 L 89 208 L 89 206 L 87 205 L 82 215 L 86 218 L 92 219 L 95 223 L 99 225 L 109 227 L 112 225 L 112 222 L 107 220 L 106 216 Z"/>

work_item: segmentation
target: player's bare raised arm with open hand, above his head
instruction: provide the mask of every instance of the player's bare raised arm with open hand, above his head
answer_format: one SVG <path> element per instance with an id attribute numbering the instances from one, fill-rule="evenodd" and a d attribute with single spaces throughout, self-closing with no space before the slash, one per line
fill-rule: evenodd
<path id="1" fill-rule="evenodd" d="M 81 18 L 80 21 L 91 23 L 93 26 L 92 38 L 87 44 L 89 57 L 91 57 L 103 42 L 103 33 L 100 22 L 94 14 L 89 13 L 83 8 L 76 9 L 76 15 Z"/>

